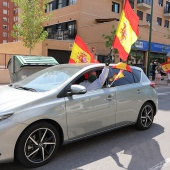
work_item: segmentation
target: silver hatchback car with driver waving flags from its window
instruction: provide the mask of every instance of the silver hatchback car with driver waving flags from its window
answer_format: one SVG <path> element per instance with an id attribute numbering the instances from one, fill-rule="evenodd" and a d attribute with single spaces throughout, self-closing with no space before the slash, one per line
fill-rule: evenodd
<path id="1" fill-rule="evenodd" d="M 119 70 L 110 66 L 101 89 L 79 85 L 85 74 L 99 75 L 104 64 L 63 64 L 0 88 L 0 162 L 27 167 L 46 164 L 58 147 L 127 125 L 146 130 L 158 108 L 154 85 L 131 66 L 109 87 Z"/>

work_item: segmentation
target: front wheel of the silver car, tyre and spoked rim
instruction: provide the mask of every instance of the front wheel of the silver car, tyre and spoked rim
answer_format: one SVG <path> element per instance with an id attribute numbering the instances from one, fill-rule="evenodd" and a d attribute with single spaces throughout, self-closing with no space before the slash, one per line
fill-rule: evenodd
<path id="1" fill-rule="evenodd" d="M 37 122 L 20 136 L 15 150 L 17 160 L 28 168 L 46 164 L 59 147 L 59 133 L 50 123 Z"/>

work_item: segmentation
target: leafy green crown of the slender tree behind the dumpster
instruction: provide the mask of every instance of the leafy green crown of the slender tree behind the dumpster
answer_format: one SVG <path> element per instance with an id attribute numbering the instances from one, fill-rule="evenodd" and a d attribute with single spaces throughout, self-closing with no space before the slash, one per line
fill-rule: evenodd
<path id="1" fill-rule="evenodd" d="M 23 42 L 29 48 L 29 55 L 35 44 L 44 41 L 48 32 L 43 28 L 43 22 L 50 19 L 51 14 L 44 15 L 49 0 L 12 0 L 20 12 L 19 23 L 14 24 L 11 35 Z"/>

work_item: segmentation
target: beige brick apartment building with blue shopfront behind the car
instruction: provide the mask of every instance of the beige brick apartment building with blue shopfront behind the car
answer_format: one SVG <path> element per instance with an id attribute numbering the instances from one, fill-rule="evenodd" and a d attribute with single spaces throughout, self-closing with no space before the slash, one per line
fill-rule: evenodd
<path id="1" fill-rule="evenodd" d="M 148 41 L 151 20 L 151 0 L 129 0 L 135 13 L 139 16 L 139 40 L 132 49 L 128 63 L 140 66 L 146 70 L 148 61 Z M 50 21 L 44 23 L 48 31 L 46 41 L 37 45 L 34 55 L 53 56 L 59 63 L 67 63 L 71 54 L 74 38 L 78 34 L 87 44 L 100 62 L 104 62 L 110 49 L 105 47 L 103 34 L 111 35 L 112 26 L 120 19 L 124 0 L 53 0 L 46 13 L 52 12 Z M 153 24 L 151 60 L 162 63 L 170 50 L 168 34 L 170 22 L 170 2 L 168 0 L 153 1 Z M 0 53 L 28 54 L 21 43 L 0 44 Z M 8 50 L 7 50 L 8 49 Z M 115 63 L 120 61 L 118 55 L 113 58 Z M 7 62 L 7 61 L 6 61 Z M 0 65 L 5 63 L 3 60 Z"/>

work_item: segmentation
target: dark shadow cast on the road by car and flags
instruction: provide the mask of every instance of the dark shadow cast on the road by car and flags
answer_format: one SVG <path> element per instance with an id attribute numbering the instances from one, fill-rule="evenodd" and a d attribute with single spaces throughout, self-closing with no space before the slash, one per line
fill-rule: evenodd
<path id="1" fill-rule="evenodd" d="M 133 126 L 107 132 L 89 139 L 61 147 L 55 158 L 36 170 L 81 170 L 84 165 L 111 157 L 116 166 L 128 170 L 147 170 L 164 158 L 154 137 L 164 132 L 158 124 L 146 131 Z M 121 155 L 130 156 L 128 164 Z M 24 170 L 18 163 L 0 164 L 0 170 Z"/>

